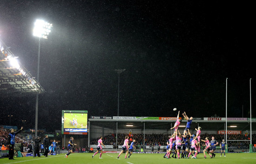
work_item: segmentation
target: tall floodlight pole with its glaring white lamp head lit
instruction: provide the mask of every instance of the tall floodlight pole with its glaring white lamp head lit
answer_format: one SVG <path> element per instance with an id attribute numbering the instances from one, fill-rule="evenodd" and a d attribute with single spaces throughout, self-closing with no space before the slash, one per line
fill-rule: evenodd
<path id="1" fill-rule="evenodd" d="M 38 54 L 37 54 L 37 82 L 39 82 L 39 64 L 40 64 L 40 39 L 47 39 L 47 36 L 51 32 L 52 24 L 45 22 L 41 19 L 36 19 L 34 23 L 33 35 L 39 38 L 38 41 Z M 38 126 L 38 93 L 36 93 L 35 102 L 35 136 L 37 136 Z"/>

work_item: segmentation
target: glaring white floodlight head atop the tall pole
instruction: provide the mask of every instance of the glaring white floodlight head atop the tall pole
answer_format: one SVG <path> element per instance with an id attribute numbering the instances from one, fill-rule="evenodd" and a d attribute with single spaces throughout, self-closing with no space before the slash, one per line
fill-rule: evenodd
<path id="1" fill-rule="evenodd" d="M 47 35 L 51 32 L 53 24 L 49 24 L 44 20 L 37 19 L 34 23 L 33 35 L 39 38 L 47 39 Z"/>

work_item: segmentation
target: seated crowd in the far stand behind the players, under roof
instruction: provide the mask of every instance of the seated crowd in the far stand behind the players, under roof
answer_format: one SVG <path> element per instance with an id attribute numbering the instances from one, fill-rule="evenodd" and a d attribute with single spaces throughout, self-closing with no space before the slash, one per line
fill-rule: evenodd
<path id="1" fill-rule="evenodd" d="M 117 136 L 117 142 L 118 145 L 122 145 L 124 142 L 125 136 L 129 134 L 127 133 L 118 133 Z M 116 134 L 108 134 L 103 136 L 103 143 L 104 145 L 114 145 L 116 143 Z M 136 140 L 136 145 L 140 146 L 143 145 L 144 142 L 144 136 L 141 133 L 135 133 L 130 135 L 132 139 Z M 205 139 L 205 137 L 215 137 L 217 142 L 221 143 L 222 139 L 225 139 L 224 134 L 208 134 L 204 133 L 201 134 L 201 139 Z M 229 141 L 228 144 L 229 146 L 237 146 L 237 147 L 244 147 L 246 146 L 247 148 L 249 147 L 249 135 L 244 135 L 244 134 L 228 134 L 227 136 L 228 140 L 248 140 L 248 141 Z M 256 134 L 252 134 L 252 144 L 256 143 Z M 145 134 L 145 145 L 155 145 L 155 146 L 161 146 L 161 145 L 166 145 L 166 141 L 168 140 L 168 135 L 167 134 Z M 90 142 L 91 145 L 97 145 L 98 139 L 92 139 Z"/>

